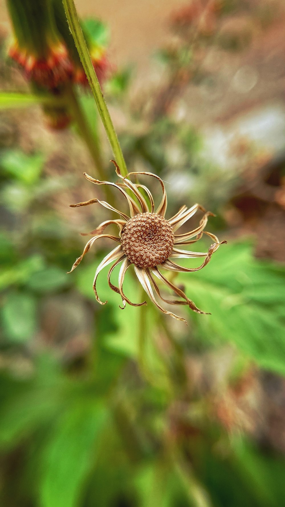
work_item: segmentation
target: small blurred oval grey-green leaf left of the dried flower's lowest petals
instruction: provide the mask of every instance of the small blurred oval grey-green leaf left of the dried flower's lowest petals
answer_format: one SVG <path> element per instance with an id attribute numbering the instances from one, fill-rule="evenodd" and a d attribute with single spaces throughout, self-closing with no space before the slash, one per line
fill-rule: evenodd
<path id="1" fill-rule="evenodd" d="M 33 291 L 46 293 L 57 291 L 69 285 L 69 283 L 70 278 L 68 278 L 65 271 L 57 266 L 50 266 L 32 273 L 26 282 L 26 286 Z"/>

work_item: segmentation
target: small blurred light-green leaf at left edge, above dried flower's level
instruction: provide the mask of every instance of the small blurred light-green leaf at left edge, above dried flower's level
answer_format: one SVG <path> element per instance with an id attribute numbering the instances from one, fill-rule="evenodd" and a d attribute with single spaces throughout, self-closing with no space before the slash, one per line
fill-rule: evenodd
<path id="1" fill-rule="evenodd" d="M 2 168 L 21 182 L 31 185 L 40 177 L 44 165 L 42 154 L 26 155 L 20 150 L 9 150 L 1 158 Z"/>

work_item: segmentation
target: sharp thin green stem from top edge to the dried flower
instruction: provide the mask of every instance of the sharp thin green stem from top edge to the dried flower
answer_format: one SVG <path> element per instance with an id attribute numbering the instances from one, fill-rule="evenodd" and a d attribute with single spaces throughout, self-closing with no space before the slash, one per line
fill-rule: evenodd
<path id="1" fill-rule="evenodd" d="M 78 15 L 76 12 L 76 7 L 74 0 L 62 0 L 63 6 L 65 10 L 65 14 L 67 17 L 68 25 L 70 28 L 70 31 L 72 32 L 74 42 L 76 44 L 81 63 L 83 65 L 83 68 L 85 70 L 87 79 L 89 81 L 89 85 L 91 88 L 91 91 L 94 95 L 95 102 L 97 104 L 98 112 L 101 117 L 102 123 L 104 125 L 106 134 L 108 136 L 108 139 L 110 141 L 114 157 L 116 159 L 117 164 L 119 165 L 122 174 L 125 176 L 127 174 L 127 166 L 126 162 L 120 147 L 120 143 L 117 137 L 117 134 L 115 132 L 115 128 L 113 125 L 113 122 L 111 120 L 110 113 L 108 111 L 108 107 L 106 105 L 106 102 L 104 100 L 101 87 L 99 85 L 98 78 L 96 76 L 95 70 L 92 65 L 92 61 L 90 58 L 89 51 L 87 49 L 87 45 L 84 39 L 84 35 L 82 33 L 82 29 L 80 26 L 80 22 L 78 19 Z"/>

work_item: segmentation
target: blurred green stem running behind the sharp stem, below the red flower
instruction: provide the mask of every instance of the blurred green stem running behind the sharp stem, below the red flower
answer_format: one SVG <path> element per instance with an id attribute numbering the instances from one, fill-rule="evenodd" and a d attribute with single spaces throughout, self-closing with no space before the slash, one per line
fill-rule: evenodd
<path id="1" fill-rule="evenodd" d="M 92 132 L 90 126 L 88 125 L 88 121 L 86 119 L 85 113 L 80 104 L 78 95 L 74 90 L 74 87 L 70 87 L 66 91 L 66 97 L 72 111 L 72 115 L 74 120 L 76 121 L 79 131 L 81 133 L 82 138 L 84 139 L 88 151 L 93 159 L 95 164 L 98 176 L 101 180 L 108 179 L 105 176 L 105 170 L 102 162 L 102 157 L 100 154 L 100 141 L 99 136 L 95 132 Z M 104 186 L 104 191 L 106 194 L 106 199 L 110 204 L 115 206 L 114 197 L 110 190 L 110 187 Z"/>

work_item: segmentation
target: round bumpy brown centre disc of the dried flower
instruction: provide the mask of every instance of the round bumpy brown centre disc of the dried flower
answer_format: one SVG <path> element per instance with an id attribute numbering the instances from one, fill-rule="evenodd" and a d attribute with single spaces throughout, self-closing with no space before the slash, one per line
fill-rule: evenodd
<path id="1" fill-rule="evenodd" d="M 153 268 L 166 261 L 172 252 L 172 227 L 156 213 L 139 213 L 122 232 L 122 248 L 128 260 L 140 268 Z"/>

